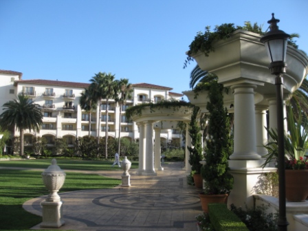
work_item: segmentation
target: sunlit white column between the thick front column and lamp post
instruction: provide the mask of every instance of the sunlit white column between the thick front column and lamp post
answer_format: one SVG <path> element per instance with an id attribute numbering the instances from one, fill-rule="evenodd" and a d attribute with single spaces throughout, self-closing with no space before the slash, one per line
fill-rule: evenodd
<path id="1" fill-rule="evenodd" d="M 266 105 L 256 105 L 256 152 L 263 157 L 267 154 L 264 145 L 267 144 Z"/>

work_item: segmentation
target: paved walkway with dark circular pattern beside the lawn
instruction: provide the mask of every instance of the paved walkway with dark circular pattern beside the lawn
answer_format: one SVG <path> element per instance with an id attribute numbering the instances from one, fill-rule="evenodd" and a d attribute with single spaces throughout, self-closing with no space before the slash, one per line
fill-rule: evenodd
<path id="1" fill-rule="evenodd" d="M 164 164 L 157 176 L 135 175 L 130 170 L 129 188 L 60 193 L 65 225 L 58 230 L 197 230 L 195 216 L 202 212 L 199 190 L 186 184 L 182 167 L 182 162 Z M 121 179 L 122 171 L 98 173 Z M 23 208 L 41 216 L 40 203 L 45 197 L 31 199 Z M 32 229 L 44 228 L 38 224 Z"/>

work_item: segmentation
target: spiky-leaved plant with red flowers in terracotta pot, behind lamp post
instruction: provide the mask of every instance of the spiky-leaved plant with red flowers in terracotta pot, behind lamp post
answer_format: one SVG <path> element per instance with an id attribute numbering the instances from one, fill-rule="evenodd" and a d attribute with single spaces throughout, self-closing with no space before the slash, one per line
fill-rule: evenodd
<path id="1" fill-rule="evenodd" d="M 285 194 L 287 201 L 300 202 L 308 197 L 308 122 L 303 111 L 288 107 L 287 128 L 285 133 Z M 296 113 L 294 113 L 296 111 Z M 296 115 L 297 114 L 297 115 Z M 278 135 L 274 130 L 267 130 L 270 142 L 265 145 L 268 154 L 265 156 L 265 167 L 278 158 Z M 278 163 L 279 164 L 279 163 Z"/>

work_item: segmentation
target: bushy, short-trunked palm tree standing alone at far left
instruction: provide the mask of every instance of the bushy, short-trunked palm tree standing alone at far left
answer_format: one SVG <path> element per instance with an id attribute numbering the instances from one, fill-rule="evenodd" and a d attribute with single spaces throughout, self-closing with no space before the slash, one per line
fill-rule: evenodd
<path id="1" fill-rule="evenodd" d="M 4 111 L 0 115 L 0 126 L 4 129 L 12 129 L 16 126 L 19 129 L 20 155 L 23 155 L 23 130 L 40 131 L 43 124 L 43 113 L 38 106 L 32 101 L 30 102 L 28 97 L 23 94 L 19 95 L 17 100 L 3 104 Z"/>

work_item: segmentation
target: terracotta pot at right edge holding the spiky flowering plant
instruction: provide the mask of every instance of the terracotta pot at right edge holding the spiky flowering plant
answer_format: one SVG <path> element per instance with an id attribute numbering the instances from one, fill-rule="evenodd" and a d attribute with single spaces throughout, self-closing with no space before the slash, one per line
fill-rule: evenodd
<path id="1" fill-rule="evenodd" d="M 303 202 L 308 197 L 308 170 L 285 170 L 287 201 Z"/>

